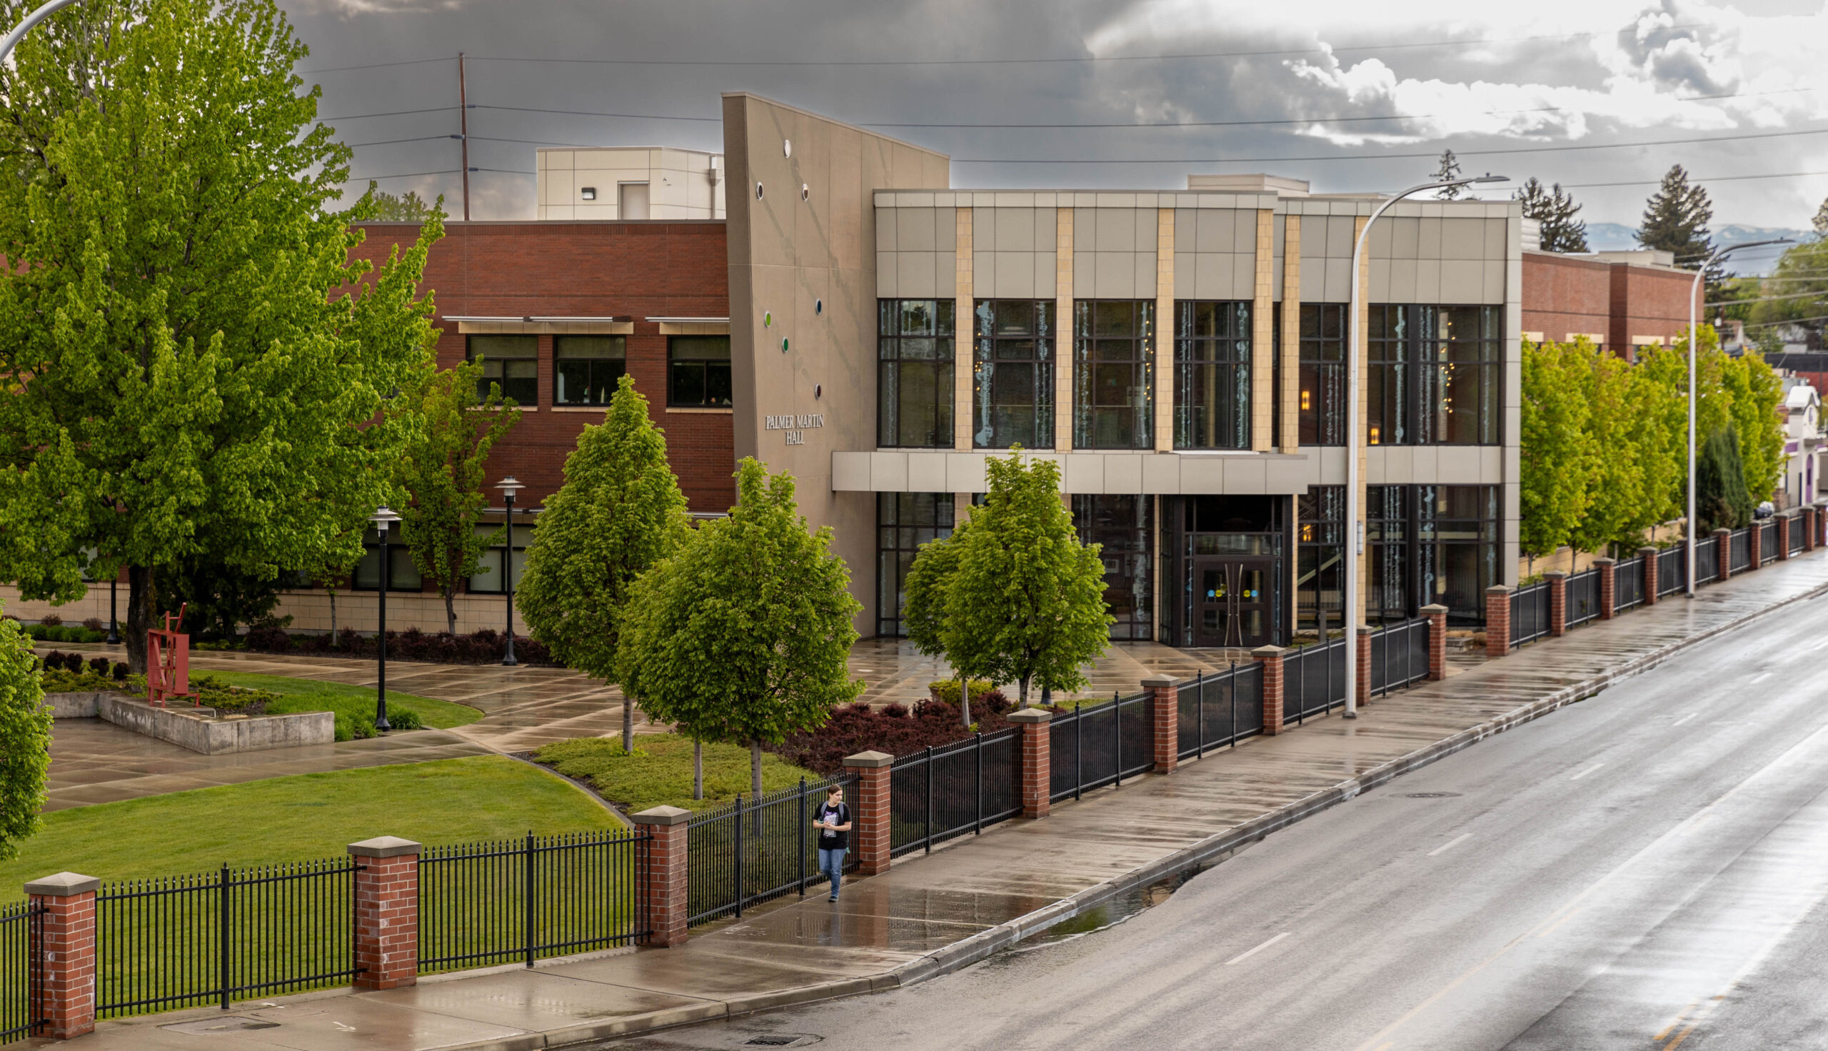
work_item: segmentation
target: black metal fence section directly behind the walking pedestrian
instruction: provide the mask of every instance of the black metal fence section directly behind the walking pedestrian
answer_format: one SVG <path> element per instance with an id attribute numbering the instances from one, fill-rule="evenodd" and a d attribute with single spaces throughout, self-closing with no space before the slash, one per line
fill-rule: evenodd
<path id="1" fill-rule="evenodd" d="M 845 786 L 846 799 L 856 777 L 801 780 L 793 788 L 762 793 L 706 810 L 686 823 L 686 885 L 691 901 L 687 923 L 706 923 L 722 916 L 742 916 L 784 894 L 806 894 L 819 881 L 819 835 L 812 826 L 826 788 Z M 845 872 L 857 866 L 857 852 L 845 855 Z"/>

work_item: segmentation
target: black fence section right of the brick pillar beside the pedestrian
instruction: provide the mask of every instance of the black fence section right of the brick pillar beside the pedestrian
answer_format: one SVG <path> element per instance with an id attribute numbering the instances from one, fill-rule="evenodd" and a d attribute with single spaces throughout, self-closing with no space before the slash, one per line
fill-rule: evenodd
<path id="1" fill-rule="evenodd" d="M 888 771 L 888 855 L 932 850 L 1022 813 L 1018 731 L 978 733 L 896 759 Z"/>

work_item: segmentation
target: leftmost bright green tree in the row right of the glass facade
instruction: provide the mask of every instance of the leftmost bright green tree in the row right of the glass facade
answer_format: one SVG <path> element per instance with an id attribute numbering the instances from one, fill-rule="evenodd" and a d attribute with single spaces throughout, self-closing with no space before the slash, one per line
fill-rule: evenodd
<path id="1" fill-rule="evenodd" d="M 1523 344 L 1519 547 L 1530 557 L 1568 543 L 1587 514 L 1594 477 L 1587 387 L 1592 373 L 1578 347 Z"/>

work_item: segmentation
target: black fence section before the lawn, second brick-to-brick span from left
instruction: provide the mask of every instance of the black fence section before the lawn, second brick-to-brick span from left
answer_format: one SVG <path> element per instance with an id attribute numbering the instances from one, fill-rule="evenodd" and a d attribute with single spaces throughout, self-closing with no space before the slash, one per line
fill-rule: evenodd
<path id="1" fill-rule="evenodd" d="M 611 828 L 428 846 L 419 855 L 419 972 L 634 945 L 645 832 Z"/>

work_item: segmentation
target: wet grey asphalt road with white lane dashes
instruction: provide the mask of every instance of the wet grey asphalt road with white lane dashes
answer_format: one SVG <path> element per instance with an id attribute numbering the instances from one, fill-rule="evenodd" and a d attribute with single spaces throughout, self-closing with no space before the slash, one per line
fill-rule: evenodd
<path id="1" fill-rule="evenodd" d="M 1828 598 L 1274 833 L 1106 930 L 605 1047 L 1828 1047 L 1824 897 Z"/>

